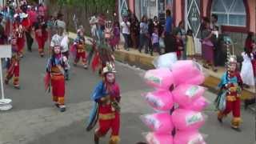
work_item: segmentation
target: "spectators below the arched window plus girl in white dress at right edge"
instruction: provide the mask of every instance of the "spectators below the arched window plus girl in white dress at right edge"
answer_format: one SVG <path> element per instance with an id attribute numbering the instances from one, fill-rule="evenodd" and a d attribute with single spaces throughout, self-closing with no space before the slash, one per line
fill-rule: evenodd
<path id="1" fill-rule="evenodd" d="M 225 66 L 227 48 L 229 45 L 234 46 L 231 40 L 230 43 L 226 43 L 227 36 L 222 34 L 221 26 L 217 22 L 218 16 L 215 14 L 212 14 L 211 21 L 210 18 L 203 18 L 201 30 L 203 66 L 207 69 L 211 66 L 214 71 L 217 71 L 215 66 Z M 254 33 L 247 34 L 244 50 L 238 56 L 243 59 L 242 66 L 240 66 L 243 85 L 246 88 L 255 86 L 256 44 Z"/>

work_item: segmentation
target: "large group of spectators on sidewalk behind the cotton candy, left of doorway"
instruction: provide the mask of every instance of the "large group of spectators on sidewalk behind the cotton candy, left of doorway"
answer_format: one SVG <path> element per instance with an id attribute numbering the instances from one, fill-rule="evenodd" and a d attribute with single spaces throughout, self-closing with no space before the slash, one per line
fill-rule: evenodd
<path id="1" fill-rule="evenodd" d="M 124 38 L 125 50 L 129 51 L 132 47 L 140 53 L 144 50 L 151 56 L 154 52 L 159 55 L 177 52 L 179 59 L 195 58 L 193 31 L 186 32 L 183 21 L 175 27 L 170 10 L 166 11 L 165 26 L 159 22 L 157 16 L 150 19 L 143 15 L 141 20 L 138 20 L 135 14 L 128 12 L 122 17 L 120 26 L 118 22 L 114 24 L 113 44 L 116 47 L 114 50 L 119 49 L 120 33 Z"/>

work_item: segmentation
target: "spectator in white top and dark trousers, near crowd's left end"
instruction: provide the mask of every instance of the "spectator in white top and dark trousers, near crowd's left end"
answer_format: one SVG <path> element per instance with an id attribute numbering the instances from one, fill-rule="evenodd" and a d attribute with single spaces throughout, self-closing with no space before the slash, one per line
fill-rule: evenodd
<path id="1" fill-rule="evenodd" d="M 129 37 L 130 37 L 130 22 L 128 18 L 123 18 L 123 22 L 121 23 L 122 35 L 125 38 L 125 50 L 129 51 Z"/>

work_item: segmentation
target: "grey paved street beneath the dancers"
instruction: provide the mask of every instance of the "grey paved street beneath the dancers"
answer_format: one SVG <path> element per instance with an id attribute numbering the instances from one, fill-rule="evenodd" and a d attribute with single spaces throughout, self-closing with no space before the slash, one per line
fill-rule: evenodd
<path id="1" fill-rule="evenodd" d="M 13 100 L 14 108 L 0 112 L 0 144 L 92 144 L 93 130 L 86 132 L 85 122 L 92 102 L 90 93 L 101 79 L 97 73 L 72 67 L 70 81 L 66 82 L 65 113 L 60 113 L 51 103 L 50 94 L 44 91 L 43 75 L 46 58 L 39 58 L 37 50 L 26 53 L 21 62 L 21 90 L 6 86 L 6 96 Z M 143 141 L 142 133 L 149 129 L 139 116 L 153 110 L 143 101 L 141 94 L 148 87 L 140 75 L 142 70 L 117 62 L 117 81 L 122 90 L 122 144 Z M 212 102 L 214 94 L 206 93 Z M 242 110 L 242 132 L 230 129 L 231 118 L 222 125 L 216 119 L 214 106 L 206 111 L 208 119 L 202 127 L 209 144 L 253 144 L 255 139 L 254 114 Z M 102 143 L 107 143 L 103 138 Z"/>

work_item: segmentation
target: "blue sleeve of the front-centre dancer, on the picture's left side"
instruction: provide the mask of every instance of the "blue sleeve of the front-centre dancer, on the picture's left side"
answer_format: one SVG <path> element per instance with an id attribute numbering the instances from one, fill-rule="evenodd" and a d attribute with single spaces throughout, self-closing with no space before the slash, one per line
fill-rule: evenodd
<path id="1" fill-rule="evenodd" d="M 101 81 L 98 85 L 94 88 L 94 92 L 91 95 L 91 99 L 96 101 L 99 98 L 105 97 L 107 95 L 106 89 L 104 87 L 104 83 Z"/>

